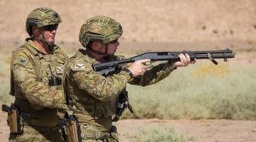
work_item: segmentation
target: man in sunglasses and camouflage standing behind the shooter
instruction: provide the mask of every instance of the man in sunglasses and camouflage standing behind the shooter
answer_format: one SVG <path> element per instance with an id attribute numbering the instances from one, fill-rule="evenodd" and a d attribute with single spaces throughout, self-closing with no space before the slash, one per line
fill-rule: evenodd
<path id="1" fill-rule="evenodd" d="M 32 10 L 26 19 L 26 38 L 11 60 L 11 92 L 19 108 L 21 132 L 10 133 L 9 141 L 63 141 L 59 117 L 63 116 L 62 69 L 68 59 L 55 45 L 61 17 L 53 9 Z"/>

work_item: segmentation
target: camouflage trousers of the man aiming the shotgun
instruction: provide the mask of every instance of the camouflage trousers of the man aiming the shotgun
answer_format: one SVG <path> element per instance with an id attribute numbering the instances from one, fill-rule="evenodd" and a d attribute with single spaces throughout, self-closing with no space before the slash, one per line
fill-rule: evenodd
<path id="1" fill-rule="evenodd" d="M 81 137 L 82 142 L 118 142 L 118 133 L 113 126 L 111 132 L 100 132 L 95 126 L 81 122 Z"/>

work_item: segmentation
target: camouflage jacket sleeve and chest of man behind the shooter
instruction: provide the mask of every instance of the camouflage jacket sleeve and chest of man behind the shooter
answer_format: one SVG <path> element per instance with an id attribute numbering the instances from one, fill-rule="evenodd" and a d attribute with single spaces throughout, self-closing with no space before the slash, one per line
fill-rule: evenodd
<path id="1" fill-rule="evenodd" d="M 36 48 L 32 41 L 26 44 Z M 61 92 L 61 85 L 49 87 L 48 76 L 52 73 L 51 76 L 53 77 L 61 77 L 62 72 L 57 73 L 57 67 L 64 65 L 67 56 L 61 52 L 60 48 L 55 47 L 53 54 L 44 55 L 42 58 L 40 60 L 42 62 L 40 70 L 41 81 L 38 81 L 34 69 L 34 65 L 37 64 L 35 63 L 36 57 L 26 48 L 18 48 L 15 51 L 13 65 L 11 65 L 15 82 L 15 97 L 27 99 L 31 105 L 36 105 L 37 110 L 44 107 L 63 108 L 64 98 Z"/>

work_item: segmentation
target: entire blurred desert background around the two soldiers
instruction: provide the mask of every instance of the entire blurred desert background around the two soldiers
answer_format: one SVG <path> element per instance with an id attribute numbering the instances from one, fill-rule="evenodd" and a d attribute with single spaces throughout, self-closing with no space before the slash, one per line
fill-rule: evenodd
<path id="1" fill-rule="evenodd" d="M 9 96 L 11 54 L 28 37 L 25 29 L 26 16 L 38 7 L 55 9 L 61 15 L 62 22 L 55 43 L 67 51 L 69 56 L 78 48 L 83 48 L 79 43 L 79 30 L 84 20 L 99 14 L 112 17 L 123 26 L 124 34 L 119 39 L 117 54 L 129 57 L 147 51 L 225 48 L 231 48 L 235 52 L 236 58 L 227 63 L 218 60 L 219 65 L 216 66 L 210 61 L 198 60 L 196 65 L 178 69 L 158 84 L 145 88 L 129 85 L 127 88 L 135 114 L 125 111 L 123 118 L 141 119 L 148 126 L 151 125 L 152 118 L 236 120 L 234 125 L 241 125 L 240 128 L 232 127 L 233 123 L 224 122 L 222 124 L 226 127 L 223 129 L 229 131 L 230 128 L 230 133 L 221 135 L 223 129 L 218 128 L 218 131 L 212 132 L 213 124 L 207 123 L 202 128 L 204 133 L 195 133 L 194 128 L 188 128 L 192 126 L 191 123 L 182 122 L 173 123 L 180 133 L 176 133 L 169 125 L 166 128 L 156 125 L 147 127 L 147 131 L 137 130 L 140 133 L 135 131 L 130 135 L 124 132 L 138 129 L 129 127 L 136 121 L 119 122 L 117 125 L 120 125 L 122 141 L 160 141 L 160 138 L 168 139 L 162 141 L 175 141 L 170 140 L 172 138 L 178 139 L 177 141 L 256 140 L 255 0 L 1 0 L 1 105 L 14 100 Z M 6 131 L 6 114 L 1 112 L 0 115 L 0 135 L 3 134 L 7 139 L 9 131 Z M 210 129 L 207 131 L 206 128 Z M 172 135 L 156 133 L 155 129 Z M 218 139 L 212 138 L 212 133 L 218 135 Z M 141 135 L 145 137 L 140 138 Z M 152 137 L 148 140 L 149 135 Z"/>

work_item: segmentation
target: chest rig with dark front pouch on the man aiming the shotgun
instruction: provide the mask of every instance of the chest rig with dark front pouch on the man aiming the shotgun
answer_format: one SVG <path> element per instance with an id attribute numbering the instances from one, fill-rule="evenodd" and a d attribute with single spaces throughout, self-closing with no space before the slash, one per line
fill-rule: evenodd
<path id="1" fill-rule="evenodd" d="M 75 60 L 75 61 L 74 61 Z M 67 70 L 67 66 L 71 65 L 73 62 L 77 62 L 78 60 L 87 60 L 90 64 L 94 64 L 95 60 L 92 60 L 87 54 L 77 53 L 73 57 L 67 61 L 65 65 L 65 70 Z M 108 61 L 119 60 L 119 57 L 113 56 L 108 59 Z M 71 64 L 70 64 L 71 63 Z M 64 71 L 68 72 L 68 71 Z M 119 71 L 111 72 L 108 76 L 119 73 Z M 73 72 L 68 72 L 69 76 L 72 76 Z M 69 106 L 72 107 L 72 110 L 77 114 L 83 114 L 85 116 L 92 116 L 94 119 L 105 119 L 115 115 L 113 122 L 117 122 L 119 117 L 122 115 L 125 108 L 131 109 L 131 105 L 128 102 L 128 94 L 125 89 L 117 98 L 113 98 L 108 102 L 102 102 L 93 98 L 90 94 L 84 92 L 84 90 L 80 89 L 76 82 L 73 81 L 72 77 L 67 77 L 67 74 L 63 76 L 63 85 L 65 88 L 65 94 L 68 99 Z M 84 117 L 85 117 L 84 116 Z M 91 118 L 90 118 L 91 119 Z M 93 118 L 92 118 L 93 119 Z M 111 122 L 111 118 L 108 119 L 108 122 Z"/>

